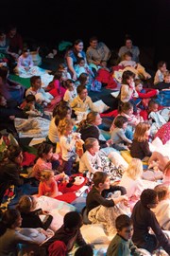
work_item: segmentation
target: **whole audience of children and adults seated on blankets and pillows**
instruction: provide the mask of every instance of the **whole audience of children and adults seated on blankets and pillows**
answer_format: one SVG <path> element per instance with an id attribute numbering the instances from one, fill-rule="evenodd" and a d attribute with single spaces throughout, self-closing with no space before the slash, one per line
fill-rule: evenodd
<path id="1" fill-rule="evenodd" d="M 93 245 L 81 233 L 85 220 L 102 224 L 112 238 L 101 255 L 152 255 L 157 249 L 169 255 L 170 154 L 151 147 L 156 138 L 162 148 L 170 146 L 166 62 L 159 62 L 152 77 L 130 37 L 114 65 L 111 50 L 97 37 L 90 39 L 86 51 L 77 39 L 51 81 L 42 86 L 40 67 L 33 63 L 17 27 L 10 26 L 7 34 L 0 29 L 0 54 L 0 132 L 5 129 L 15 141 L 4 147 L 7 141 L 1 137 L 0 255 L 66 256 L 75 245 L 76 256 L 94 255 Z M 21 77 L 28 74 L 30 87 L 8 79 L 11 70 Z M 110 120 L 109 129 L 102 127 L 104 118 L 90 97 L 91 91 L 107 86 L 119 91 L 117 109 L 103 113 Z M 161 93 L 166 103 L 159 101 Z M 17 118 L 49 121 L 48 134 L 26 175 Z M 85 208 L 67 212 L 63 225 L 51 230 L 53 216 L 48 209 L 36 209 L 37 200 L 46 196 L 70 203 L 71 193 L 60 187 L 75 175 L 89 186 Z"/>

